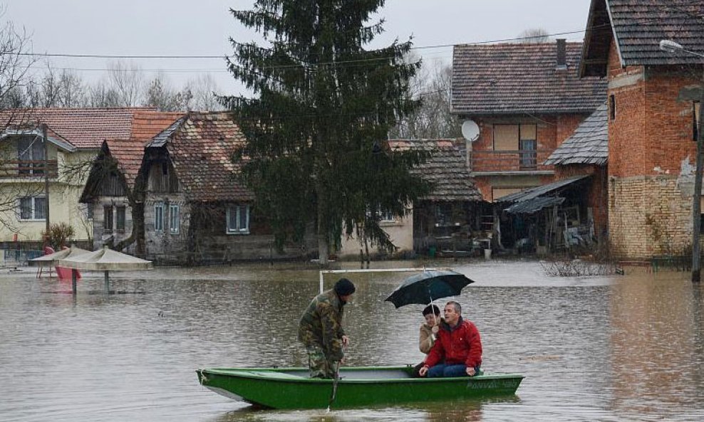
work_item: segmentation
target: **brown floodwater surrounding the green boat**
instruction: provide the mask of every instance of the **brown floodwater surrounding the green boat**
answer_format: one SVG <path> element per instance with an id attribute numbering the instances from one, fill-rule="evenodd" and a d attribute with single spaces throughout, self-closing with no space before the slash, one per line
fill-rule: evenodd
<path id="1" fill-rule="evenodd" d="M 704 421 L 704 288 L 688 273 L 554 278 L 531 261 L 451 264 L 476 280 L 459 301 L 482 333 L 483 369 L 527 376 L 516 396 L 326 413 L 256 409 L 198 384 L 197 368 L 304 365 L 297 322 L 316 270 L 113 273 L 109 296 L 89 273 L 75 298 L 70 283 L 2 270 L 0 421 Z M 423 358 L 422 307 L 383 302 L 405 275 L 348 275 L 358 286 L 348 364 Z"/>

